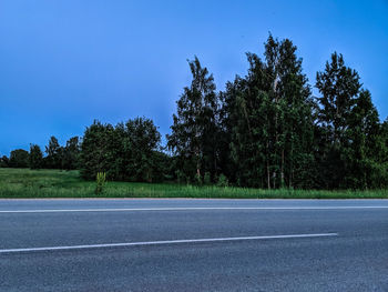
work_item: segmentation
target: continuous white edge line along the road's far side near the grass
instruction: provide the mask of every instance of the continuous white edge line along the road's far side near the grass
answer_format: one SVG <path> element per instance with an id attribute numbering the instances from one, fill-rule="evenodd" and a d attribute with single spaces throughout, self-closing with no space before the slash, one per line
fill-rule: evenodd
<path id="1" fill-rule="evenodd" d="M 132 211 L 206 211 L 206 210 L 353 210 L 388 209 L 388 205 L 343 205 L 343 207 L 177 207 L 177 208 L 116 208 L 116 209 L 41 209 L 1 210 L 0 213 L 55 213 L 55 212 L 132 212 Z"/>

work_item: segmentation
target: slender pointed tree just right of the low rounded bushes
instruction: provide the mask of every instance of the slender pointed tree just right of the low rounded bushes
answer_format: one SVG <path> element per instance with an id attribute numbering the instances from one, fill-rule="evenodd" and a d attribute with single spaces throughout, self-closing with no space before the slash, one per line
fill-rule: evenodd
<path id="1" fill-rule="evenodd" d="M 180 175 L 201 182 L 206 172 L 215 178 L 218 171 L 218 97 L 213 75 L 200 60 L 195 57 L 188 66 L 193 79 L 177 101 L 167 147 Z"/>

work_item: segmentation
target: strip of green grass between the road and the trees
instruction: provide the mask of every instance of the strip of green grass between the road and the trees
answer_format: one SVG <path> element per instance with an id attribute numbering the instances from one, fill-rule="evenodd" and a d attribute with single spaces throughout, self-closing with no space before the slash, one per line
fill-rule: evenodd
<path id="1" fill-rule="evenodd" d="M 174 183 L 108 182 L 94 194 L 95 182 L 78 171 L 0 169 L 0 198 L 235 198 L 235 199 L 388 199 L 388 190 L 315 191 L 193 187 Z"/>

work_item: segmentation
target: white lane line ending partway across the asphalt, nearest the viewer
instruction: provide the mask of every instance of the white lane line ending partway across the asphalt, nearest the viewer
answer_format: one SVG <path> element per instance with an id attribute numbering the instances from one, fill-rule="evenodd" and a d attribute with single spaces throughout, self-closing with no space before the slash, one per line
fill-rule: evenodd
<path id="1" fill-rule="evenodd" d="M 7 249 L 7 250 L 0 250 L 0 254 L 1 253 L 16 253 L 16 252 L 65 251 L 65 250 L 81 250 L 81 249 L 142 246 L 142 245 L 161 245 L 161 244 L 176 244 L 176 243 L 200 243 L 200 242 L 244 241 L 244 240 L 324 238 L 324 236 L 337 236 L 337 235 L 338 235 L 338 233 L 317 233 L 317 234 L 290 234 L 290 235 L 266 235 L 266 236 L 243 236 L 243 238 L 219 238 L 219 239 L 194 239 L 194 240 L 165 240 L 165 241 L 145 241 L 145 242 L 124 242 L 124 243 L 105 243 L 105 244 L 88 244 L 88 245 L 48 246 L 48 248 L 29 248 L 29 249 Z"/>

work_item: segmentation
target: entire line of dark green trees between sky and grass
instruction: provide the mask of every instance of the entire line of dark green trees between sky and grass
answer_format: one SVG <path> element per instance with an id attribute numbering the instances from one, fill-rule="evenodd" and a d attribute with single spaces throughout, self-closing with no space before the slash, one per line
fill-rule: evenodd
<path id="1" fill-rule="evenodd" d="M 115 127 L 95 121 L 64 148 L 50 140 L 45 158 L 31 145 L 1 164 L 19 167 L 18 155 L 24 167 L 78 168 L 85 179 L 104 171 L 122 181 L 387 188 L 388 121 L 380 122 L 358 72 L 334 52 L 316 74 L 314 97 L 289 39 L 269 34 L 264 49 L 263 58 L 247 53 L 246 75 L 222 91 L 196 57 L 188 61 L 192 81 L 177 100 L 165 147 L 150 119 Z"/>

